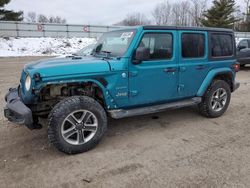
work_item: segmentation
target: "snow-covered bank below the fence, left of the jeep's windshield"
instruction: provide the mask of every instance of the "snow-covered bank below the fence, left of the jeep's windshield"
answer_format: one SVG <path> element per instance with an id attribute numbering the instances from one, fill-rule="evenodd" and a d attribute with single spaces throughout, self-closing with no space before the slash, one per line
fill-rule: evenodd
<path id="1" fill-rule="evenodd" d="M 0 38 L 0 57 L 72 54 L 95 42 L 94 38 Z"/>

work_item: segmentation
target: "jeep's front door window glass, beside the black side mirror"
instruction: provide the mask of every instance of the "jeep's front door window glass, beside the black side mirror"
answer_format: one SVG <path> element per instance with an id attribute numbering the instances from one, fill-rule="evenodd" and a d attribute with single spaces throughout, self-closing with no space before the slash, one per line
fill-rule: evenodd
<path id="1" fill-rule="evenodd" d="M 139 47 L 149 48 L 149 60 L 171 59 L 173 56 L 173 36 L 171 33 L 146 33 Z"/>

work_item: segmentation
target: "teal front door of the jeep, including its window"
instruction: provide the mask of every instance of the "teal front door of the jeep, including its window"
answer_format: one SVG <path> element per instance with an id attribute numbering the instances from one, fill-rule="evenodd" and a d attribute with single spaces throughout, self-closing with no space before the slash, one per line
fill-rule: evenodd
<path id="1" fill-rule="evenodd" d="M 138 47 L 148 48 L 150 58 L 129 66 L 129 103 L 133 106 L 177 98 L 178 60 L 176 31 L 144 31 Z"/>

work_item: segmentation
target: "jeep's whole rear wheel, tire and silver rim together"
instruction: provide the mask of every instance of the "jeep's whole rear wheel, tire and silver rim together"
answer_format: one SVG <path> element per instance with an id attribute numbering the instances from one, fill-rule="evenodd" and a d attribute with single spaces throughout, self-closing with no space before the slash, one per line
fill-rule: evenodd
<path id="1" fill-rule="evenodd" d="M 200 113 L 209 118 L 220 117 L 227 110 L 231 99 L 230 86 L 224 80 L 215 80 L 199 104 Z"/>

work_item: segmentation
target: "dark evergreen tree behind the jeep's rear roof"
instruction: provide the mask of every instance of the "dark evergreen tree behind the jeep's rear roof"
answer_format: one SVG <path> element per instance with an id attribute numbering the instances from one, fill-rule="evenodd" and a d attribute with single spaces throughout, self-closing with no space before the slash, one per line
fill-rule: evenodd
<path id="1" fill-rule="evenodd" d="M 236 11 L 234 0 L 214 0 L 213 6 L 203 14 L 201 23 L 207 27 L 233 28 L 238 21 L 234 16 Z"/>

